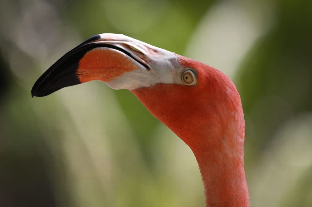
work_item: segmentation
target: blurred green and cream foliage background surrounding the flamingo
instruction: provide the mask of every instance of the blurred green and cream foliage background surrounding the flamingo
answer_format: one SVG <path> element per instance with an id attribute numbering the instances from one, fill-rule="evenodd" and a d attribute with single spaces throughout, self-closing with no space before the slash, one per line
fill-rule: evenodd
<path id="1" fill-rule="evenodd" d="M 187 145 L 100 81 L 31 98 L 99 33 L 218 68 L 241 94 L 251 206 L 312 206 L 312 1 L 2 0 L 0 206 L 204 206 Z"/>

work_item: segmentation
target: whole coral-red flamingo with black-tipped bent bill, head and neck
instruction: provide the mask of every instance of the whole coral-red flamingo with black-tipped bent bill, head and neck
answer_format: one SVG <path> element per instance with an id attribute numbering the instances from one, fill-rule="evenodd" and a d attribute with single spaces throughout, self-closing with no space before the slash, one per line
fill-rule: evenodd
<path id="1" fill-rule="evenodd" d="M 249 206 L 245 121 L 233 82 L 217 69 L 122 34 L 99 34 L 67 52 L 32 87 L 47 96 L 100 80 L 128 89 L 193 151 L 206 206 Z"/>

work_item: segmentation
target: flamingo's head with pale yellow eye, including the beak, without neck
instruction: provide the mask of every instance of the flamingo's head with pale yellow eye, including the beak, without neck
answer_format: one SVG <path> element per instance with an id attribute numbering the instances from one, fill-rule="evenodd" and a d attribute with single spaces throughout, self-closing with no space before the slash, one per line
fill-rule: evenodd
<path id="1" fill-rule="evenodd" d="M 194 133 L 185 129 L 193 125 L 202 131 L 201 127 L 207 126 L 203 112 L 211 117 L 211 129 L 220 121 L 226 122 L 222 118 L 226 116 L 220 113 L 235 106 L 232 96 L 239 98 L 232 81 L 215 68 L 110 33 L 95 35 L 67 52 L 35 82 L 32 96 L 47 96 L 66 86 L 93 80 L 113 89 L 130 90 L 191 147 L 207 141 L 194 139 Z"/>

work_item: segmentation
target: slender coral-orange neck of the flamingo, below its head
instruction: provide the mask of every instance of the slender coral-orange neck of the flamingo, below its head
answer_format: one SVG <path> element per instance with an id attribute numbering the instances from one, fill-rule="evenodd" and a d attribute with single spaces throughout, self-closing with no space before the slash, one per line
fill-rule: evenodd
<path id="1" fill-rule="evenodd" d="M 250 206 L 244 169 L 245 121 L 240 105 L 237 108 L 236 113 L 219 111 L 223 118 L 197 119 L 190 133 L 168 124 L 197 159 L 207 207 Z"/>

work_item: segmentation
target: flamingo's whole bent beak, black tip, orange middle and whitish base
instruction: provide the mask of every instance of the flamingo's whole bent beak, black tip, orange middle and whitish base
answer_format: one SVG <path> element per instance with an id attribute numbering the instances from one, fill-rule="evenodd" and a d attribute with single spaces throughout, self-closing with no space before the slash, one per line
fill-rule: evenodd
<path id="1" fill-rule="evenodd" d="M 95 35 L 67 52 L 32 87 L 33 96 L 100 80 L 113 89 L 134 90 L 157 83 L 180 83 L 182 67 L 169 51 L 121 34 Z"/>

